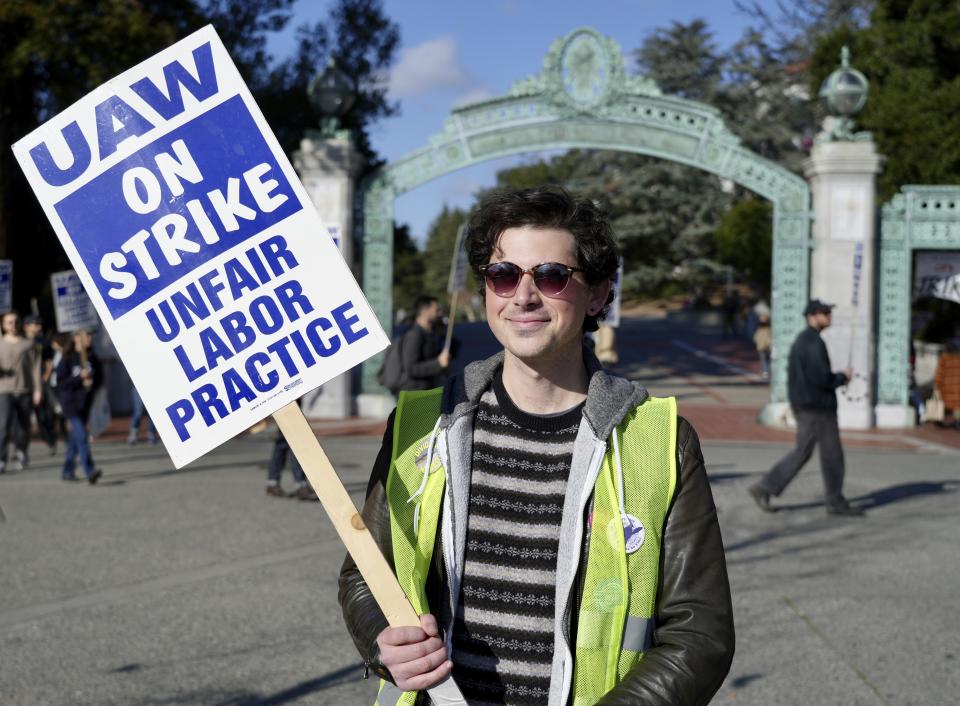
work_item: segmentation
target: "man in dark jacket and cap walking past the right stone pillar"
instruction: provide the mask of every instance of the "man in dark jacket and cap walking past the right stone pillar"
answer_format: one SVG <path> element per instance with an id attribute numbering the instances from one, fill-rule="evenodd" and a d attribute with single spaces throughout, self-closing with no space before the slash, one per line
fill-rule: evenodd
<path id="1" fill-rule="evenodd" d="M 831 515 L 860 517 L 863 510 L 850 505 L 843 496 L 843 447 L 837 426 L 836 389 L 853 376 L 849 368 L 830 369 L 830 356 L 820 332 L 831 323 L 833 306 L 811 299 L 804 309 L 807 328 L 797 336 L 790 349 L 788 385 L 790 406 L 797 420 L 797 445 L 780 459 L 749 492 L 760 509 L 773 512 L 770 496 L 783 492 L 820 444 L 820 466 L 827 512 Z"/>

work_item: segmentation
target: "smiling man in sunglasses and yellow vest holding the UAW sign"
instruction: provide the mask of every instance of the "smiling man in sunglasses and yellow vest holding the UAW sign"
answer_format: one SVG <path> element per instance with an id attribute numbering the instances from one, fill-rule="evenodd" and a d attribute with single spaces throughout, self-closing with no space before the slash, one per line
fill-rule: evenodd
<path id="1" fill-rule="evenodd" d="M 341 573 L 377 703 L 450 674 L 469 703 L 706 703 L 734 633 L 696 433 L 582 345 L 610 302 L 609 223 L 561 189 L 504 192 L 467 250 L 504 350 L 401 393 L 362 513 L 421 626 L 388 627 Z"/>

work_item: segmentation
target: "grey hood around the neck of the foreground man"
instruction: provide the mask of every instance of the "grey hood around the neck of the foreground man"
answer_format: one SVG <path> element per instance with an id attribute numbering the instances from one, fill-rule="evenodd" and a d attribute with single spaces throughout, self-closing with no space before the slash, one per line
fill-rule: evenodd
<path id="1" fill-rule="evenodd" d="M 493 382 L 497 369 L 503 365 L 500 351 L 486 360 L 470 363 L 450 380 L 443 392 L 441 427 L 449 427 L 459 417 L 472 412 L 480 404 L 480 397 Z M 605 439 L 624 415 L 641 404 L 649 394 L 638 382 L 604 370 L 593 351 L 584 346 L 583 360 L 587 366 L 589 385 L 583 416 L 598 439 Z"/>

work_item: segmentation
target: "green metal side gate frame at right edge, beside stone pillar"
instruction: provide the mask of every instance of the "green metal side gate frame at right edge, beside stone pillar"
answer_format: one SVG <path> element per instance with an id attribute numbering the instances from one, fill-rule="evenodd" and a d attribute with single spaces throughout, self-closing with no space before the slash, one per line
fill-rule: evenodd
<path id="1" fill-rule="evenodd" d="M 904 186 L 883 207 L 877 403 L 906 405 L 914 250 L 960 250 L 960 186 Z"/>

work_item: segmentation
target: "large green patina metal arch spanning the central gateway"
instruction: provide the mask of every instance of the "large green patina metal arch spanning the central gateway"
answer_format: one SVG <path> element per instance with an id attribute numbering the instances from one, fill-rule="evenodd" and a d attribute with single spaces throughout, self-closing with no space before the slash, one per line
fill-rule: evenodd
<path id="1" fill-rule="evenodd" d="M 358 189 L 364 292 L 383 327 L 392 327 L 393 202 L 458 169 L 499 157 L 556 149 L 635 152 L 687 164 L 734 181 L 773 203 L 771 401 L 786 400 L 786 356 L 803 326 L 810 241 L 807 182 L 742 146 L 720 113 L 661 94 L 627 75 L 612 39 L 582 28 L 558 39 L 543 71 L 503 97 L 456 108 L 429 144 L 386 165 Z M 379 357 L 364 365 L 362 390 L 377 383 Z"/>

